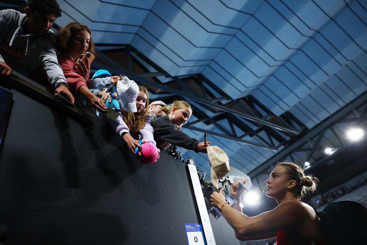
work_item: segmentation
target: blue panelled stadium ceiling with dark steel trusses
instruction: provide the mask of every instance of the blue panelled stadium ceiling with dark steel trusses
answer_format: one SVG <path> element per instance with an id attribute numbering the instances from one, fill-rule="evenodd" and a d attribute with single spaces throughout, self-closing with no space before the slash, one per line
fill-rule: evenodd
<path id="1" fill-rule="evenodd" d="M 276 161 L 317 162 L 321 146 L 341 147 L 353 122 L 341 128 L 335 115 L 351 112 L 366 127 L 366 1 L 58 3 L 57 25 L 90 27 L 92 68 L 128 75 L 148 87 L 150 100 L 190 101 L 182 130 L 201 141 L 206 131 L 252 177 Z M 206 155 L 181 155 L 210 171 Z"/>

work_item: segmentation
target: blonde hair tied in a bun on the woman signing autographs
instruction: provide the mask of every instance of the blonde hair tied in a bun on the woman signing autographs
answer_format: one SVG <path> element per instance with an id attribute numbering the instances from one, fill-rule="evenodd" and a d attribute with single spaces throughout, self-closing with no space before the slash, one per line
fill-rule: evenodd
<path id="1" fill-rule="evenodd" d="M 287 180 L 296 181 L 293 188 L 294 195 L 297 199 L 302 199 L 309 191 L 314 192 L 319 181 L 316 177 L 305 175 L 302 167 L 293 162 L 280 162 L 277 166 L 283 166 L 286 169 Z"/>

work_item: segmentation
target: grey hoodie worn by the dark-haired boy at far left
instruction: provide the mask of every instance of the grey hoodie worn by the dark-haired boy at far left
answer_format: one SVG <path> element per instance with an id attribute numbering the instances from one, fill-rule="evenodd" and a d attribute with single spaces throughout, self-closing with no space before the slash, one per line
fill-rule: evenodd
<path id="1" fill-rule="evenodd" d="M 56 48 L 52 40 L 52 30 L 45 35 L 30 33 L 23 35 L 26 14 L 15 10 L 0 11 L 0 61 L 11 58 L 33 71 L 42 67 L 52 86 L 68 86 L 57 62 Z"/>

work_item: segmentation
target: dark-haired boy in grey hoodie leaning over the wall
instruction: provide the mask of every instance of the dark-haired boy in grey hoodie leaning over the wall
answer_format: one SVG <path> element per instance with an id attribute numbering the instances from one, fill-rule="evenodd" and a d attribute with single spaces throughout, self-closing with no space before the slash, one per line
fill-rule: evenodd
<path id="1" fill-rule="evenodd" d="M 15 10 L 0 11 L 0 73 L 9 76 L 9 59 L 34 71 L 42 67 L 55 87 L 55 96 L 63 93 L 74 103 L 68 83 L 57 62 L 51 27 L 61 10 L 56 0 L 28 0 L 25 14 Z"/>

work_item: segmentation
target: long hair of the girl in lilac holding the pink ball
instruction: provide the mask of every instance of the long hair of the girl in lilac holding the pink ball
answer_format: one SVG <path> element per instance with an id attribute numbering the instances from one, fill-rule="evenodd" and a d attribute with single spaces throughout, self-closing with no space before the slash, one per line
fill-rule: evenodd
<path id="1" fill-rule="evenodd" d="M 139 91 L 146 94 L 145 107 L 141 112 L 127 112 L 123 111 L 123 118 L 126 125 L 129 127 L 130 131 L 134 134 L 138 133 L 145 126 L 145 118 L 148 115 L 148 105 L 149 105 L 149 94 L 146 87 L 139 86 Z"/>

